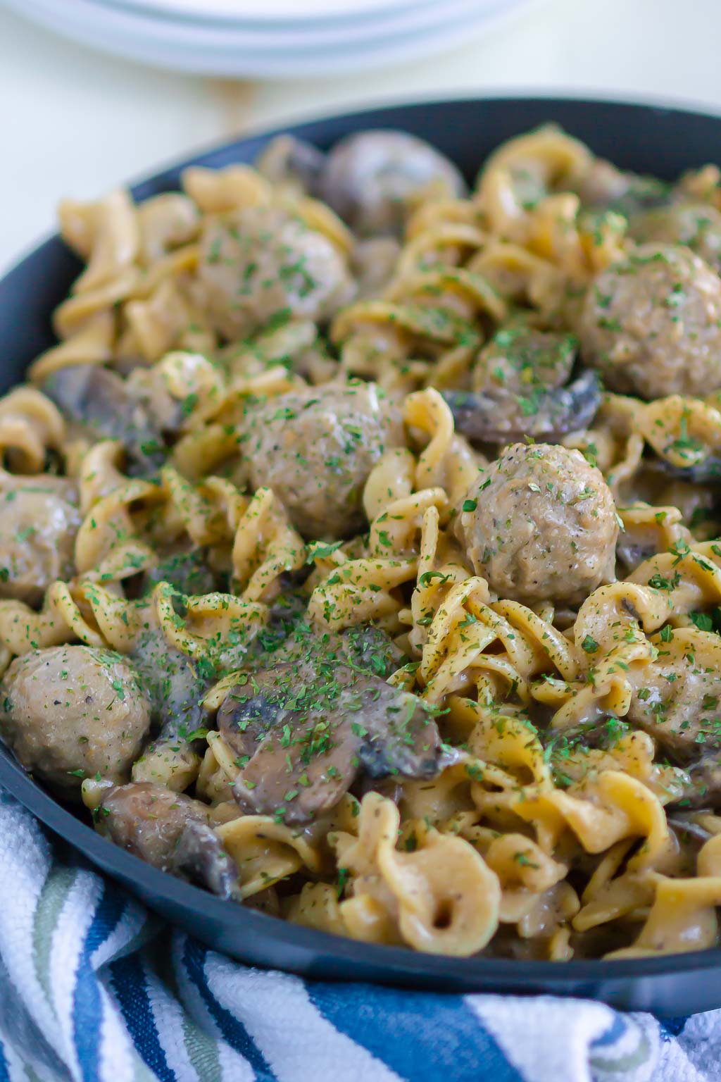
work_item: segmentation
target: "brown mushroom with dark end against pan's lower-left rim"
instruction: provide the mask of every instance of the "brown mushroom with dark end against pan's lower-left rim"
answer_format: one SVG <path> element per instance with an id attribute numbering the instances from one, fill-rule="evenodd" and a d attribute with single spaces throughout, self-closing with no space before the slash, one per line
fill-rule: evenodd
<path id="1" fill-rule="evenodd" d="M 146 863 L 230 898 L 238 871 L 200 801 L 149 781 L 111 789 L 94 813 L 101 834 Z"/>

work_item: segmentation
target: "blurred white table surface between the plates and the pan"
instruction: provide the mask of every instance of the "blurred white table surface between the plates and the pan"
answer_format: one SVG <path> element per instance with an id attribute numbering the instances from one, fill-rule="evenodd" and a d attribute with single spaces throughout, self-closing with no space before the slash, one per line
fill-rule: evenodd
<path id="1" fill-rule="evenodd" d="M 0 9 L 0 268 L 52 227 L 61 196 L 97 196 L 268 123 L 507 89 L 721 111 L 720 42 L 721 0 L 539 0 L 423 61 L 347 78 L 227 82 L 95 54 Z"/>

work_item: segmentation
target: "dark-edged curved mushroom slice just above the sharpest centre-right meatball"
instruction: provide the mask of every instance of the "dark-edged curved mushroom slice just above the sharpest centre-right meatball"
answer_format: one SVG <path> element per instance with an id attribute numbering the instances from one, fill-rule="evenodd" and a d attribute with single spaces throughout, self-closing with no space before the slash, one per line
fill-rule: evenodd
<path id="1" fill-rule="evenodd" d="M 456 432 L 472 443 L 511 443 L 531 436 L 552 443 L 587 428 L 601 405 L 601 381 L 586 371 L 564 387 L 536 388 L 529 396 L 444 391 Z"/>

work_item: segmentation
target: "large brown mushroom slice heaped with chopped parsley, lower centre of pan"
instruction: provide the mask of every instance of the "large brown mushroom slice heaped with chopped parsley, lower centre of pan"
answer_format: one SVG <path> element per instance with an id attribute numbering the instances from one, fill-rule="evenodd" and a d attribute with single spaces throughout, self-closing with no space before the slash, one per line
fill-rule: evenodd
<path id="1" fill-rule="evenodd" d="M 217 721 L 238 756 L 238 803 L 285 822 L 330 810 L 361 771 L 432 778 L 441 767 L 426 704 L 343 663 L 321 661 L 302 681 L 291 663 L 249 674 Z"/>

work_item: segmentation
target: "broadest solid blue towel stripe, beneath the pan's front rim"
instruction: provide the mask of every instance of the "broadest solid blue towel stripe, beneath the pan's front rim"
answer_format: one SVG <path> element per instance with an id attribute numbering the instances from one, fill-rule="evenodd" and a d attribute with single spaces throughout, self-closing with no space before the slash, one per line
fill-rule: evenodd
<path id="1" fill-rule="evenodd" d="M 308 984 L 308 994 L 342 1033 L 404 1079 L 523 1082 L 480 1018 L 459 997 L 356 985 Z M 450 1077 L 450 1076 L 449 1076 Z"/>

